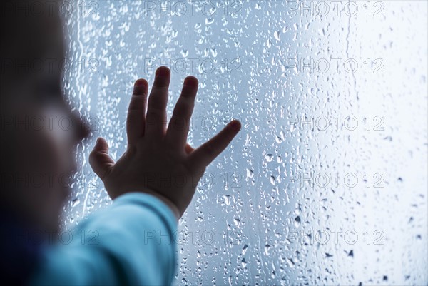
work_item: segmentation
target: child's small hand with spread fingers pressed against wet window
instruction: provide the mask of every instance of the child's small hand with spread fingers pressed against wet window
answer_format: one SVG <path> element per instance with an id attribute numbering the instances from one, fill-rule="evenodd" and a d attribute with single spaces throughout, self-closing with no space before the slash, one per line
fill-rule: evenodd
<path id="1" fill-rule="evenodd" d="M 89 162 L 113 200 L 128 192 L 151 193 L 170 205 L 180 218 L 192 200 L 205 168 L 239 132 L 240 122 L 231 121 L 210 141 L 193 149 L 187 144 L 187 136 L 198 80 L 193 76 L 185 78 L 167 130 L 169 83 L 170 70 L 158 68 L 146 104 L 148 83 L 144 79 L 136 81 L 126 122 L 126 152 L 115 164 L 108 155 L 107 142 L 98 138 Z"/>

